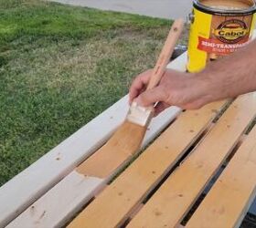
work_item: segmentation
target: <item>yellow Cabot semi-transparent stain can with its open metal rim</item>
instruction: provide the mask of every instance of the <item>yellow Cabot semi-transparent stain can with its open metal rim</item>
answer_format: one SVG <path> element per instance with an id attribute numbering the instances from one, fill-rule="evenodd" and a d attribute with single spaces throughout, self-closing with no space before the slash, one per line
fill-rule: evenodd
<path id="1" fill-rule="evenodd" d="M 227 56 L 251 40 L 256 22 L 254 0 L 194 0 L 189 16 L 187 71 Z"/>

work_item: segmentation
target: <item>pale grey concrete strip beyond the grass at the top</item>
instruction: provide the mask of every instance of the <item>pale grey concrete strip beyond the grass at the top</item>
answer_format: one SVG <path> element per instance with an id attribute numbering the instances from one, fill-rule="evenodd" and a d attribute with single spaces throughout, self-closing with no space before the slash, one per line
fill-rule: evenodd
<path id="1" fill-rule="evenodd" d="M 102 10 L 126 12 L 160 18 L 186 17 L 192 0 L 53 0 L 55 2 L 88 6 Z"/>

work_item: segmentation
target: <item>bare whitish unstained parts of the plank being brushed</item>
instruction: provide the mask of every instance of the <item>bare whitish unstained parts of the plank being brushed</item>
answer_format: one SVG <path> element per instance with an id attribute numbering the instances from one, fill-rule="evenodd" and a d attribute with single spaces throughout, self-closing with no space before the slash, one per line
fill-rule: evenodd
<path id="1" fill-rule="evenodd" d="M 167 113 L 163 115 L 174 117 L 174 113 L 170 112 L 174 109 L 167 110 Z M 178 113 L 178 112 L 176 112 Z M 158 132 L 162 131 L 166 124 L 169 122 L 164 116 L 160 116 L 154 119 L 150 129 L 146 132 L 146 136 L 143 142 L 143 147 L 147 145 Z M 127 157 L 130 155 L 126 154 Z M 121 168 L 121 167 L 120 167 Z M 119 170 L 114 171 L 116 173 Z M 114 174 L 112 173 L 112 174 Z M 97 178 L 98 183 L 92 184 L 90 178 L 87 175 L 80 174 L 79 172 L 72 171 L 68 176 L 66 176 L 62 181 L 59 181 L 51 190 L 49 190 L 45 195 L 43 195 L 37 202 L 30 205 L 27 210 L 21 213 L 12 223 L 9 223 L 7 227 L 20 227 L 19 224 L 24 224 L 26 227 L 53 227 L 61 226 L 65 224 L 74 213 L 78 212 L 82 205 L 88 202 L 95 192 L 100 191 L 104 186 L 105 182 L 109 181 L 111 176 L 104 179 Z M 91 177 L 95 178 L 95 177 Z M 83 183 L 80 188 L 78 188 L 77 180 Z M 53 199 L 58 199 L 58 201 L 53 201 Z M 57 202 L 57 204 L 55 204 Z M 62 202 L 62 203 L 58 203 Z M 72 202 L 72 203 L 70 203 Z M 35 211 L 32 209 L 37 208 L 37 213 L 31 213 Z M 40 216 L 43 212 L 47 212 L 48 216 Z M 58 213 L 56 213 L 58 212 Z M 26 224 L 26 225 L 25 225 Z"/>

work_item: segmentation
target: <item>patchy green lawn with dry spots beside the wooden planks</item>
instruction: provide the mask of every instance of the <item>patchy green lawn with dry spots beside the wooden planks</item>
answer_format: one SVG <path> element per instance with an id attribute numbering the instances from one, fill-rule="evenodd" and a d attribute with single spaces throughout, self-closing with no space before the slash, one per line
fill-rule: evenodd
<path id="1" fill-rule="evenodd" d="M 0 186 L 123 97 L 170 27 L 36 0 L 0 0 L 0 18 Z"/>

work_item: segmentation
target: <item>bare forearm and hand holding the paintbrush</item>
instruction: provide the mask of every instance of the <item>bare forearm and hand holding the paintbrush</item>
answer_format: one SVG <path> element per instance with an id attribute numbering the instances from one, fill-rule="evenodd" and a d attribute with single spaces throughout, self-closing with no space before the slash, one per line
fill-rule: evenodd
<path id="1" fill-rule="evenodd" d="M 195 74 L 166 70 L 156 88 L 144 91 L 150 71 L 139 75 L 130 88 L 133 99 L 144 107 L 160 101 L 158 114 L 169 106 L 182 109 L 199 109 L 209 102 L 234 98 L 256 90 L 256 41 L 237 52 L 208 64 Z"/>

